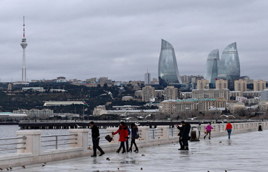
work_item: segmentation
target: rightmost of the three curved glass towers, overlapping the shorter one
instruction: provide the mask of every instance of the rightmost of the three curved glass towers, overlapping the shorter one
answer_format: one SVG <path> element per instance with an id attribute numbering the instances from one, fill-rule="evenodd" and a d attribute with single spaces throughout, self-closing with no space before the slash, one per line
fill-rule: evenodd
<path id="1" fill-rule="evenodd" d="M 222 52 L 218 79 L 228 80 L 229 89 L 234 88 L 234 81 L 240 77 L 240 62 L 236 42 L 228 45 Z"/>

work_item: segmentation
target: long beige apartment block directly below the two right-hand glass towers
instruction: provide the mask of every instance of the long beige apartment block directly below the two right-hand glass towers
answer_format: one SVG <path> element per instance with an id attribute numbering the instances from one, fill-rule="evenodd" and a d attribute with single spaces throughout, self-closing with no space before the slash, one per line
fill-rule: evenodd
<path id="1" fill-rule="evenodd" d="M 206 99 L 206 98 L 222 98 L 226 102 L 230 101 L 229 89 L 204 89 L 204 90 L 192 90 L 193 99 Z"/>

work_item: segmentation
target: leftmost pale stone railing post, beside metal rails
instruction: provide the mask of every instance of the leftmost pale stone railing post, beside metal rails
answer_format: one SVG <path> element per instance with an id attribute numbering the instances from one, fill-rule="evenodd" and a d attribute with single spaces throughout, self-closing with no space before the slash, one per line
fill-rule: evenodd
<path id="1" fill-rule="evenodd" d="M 41 152 L 41 130 L 35 131 L 16 131 L 17 137 L 26 136 L 26 139 L 17 139 L 17 143 L 25 142 L 26 144 L 18 144 L 17 148 L 26 149 L 18 149 L 17 153 L 32 153 L 33 156 L 39 156 Z"/>

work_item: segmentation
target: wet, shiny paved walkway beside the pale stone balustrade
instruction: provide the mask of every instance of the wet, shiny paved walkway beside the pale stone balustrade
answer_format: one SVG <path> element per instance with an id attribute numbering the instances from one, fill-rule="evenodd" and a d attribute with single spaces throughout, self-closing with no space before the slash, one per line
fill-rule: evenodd
<path id="1" fill-rule="evenodd" d="M 179 144 L 140 148 L 139 153 L 107 153 L 58 162 L 14 167 L 18 172 L 268 172 L 268 130 L 190 142 L 189 151 Z M 222 141 L 222 143 L 219 143 Z M 141 156 L 141 155 L 145 156 Z M 106 158 L 111 161 L 107 161 Z M 119 168 L 119 170 L 118 170 Z M 140 168 L 143 170 L 141 171 Z"/>

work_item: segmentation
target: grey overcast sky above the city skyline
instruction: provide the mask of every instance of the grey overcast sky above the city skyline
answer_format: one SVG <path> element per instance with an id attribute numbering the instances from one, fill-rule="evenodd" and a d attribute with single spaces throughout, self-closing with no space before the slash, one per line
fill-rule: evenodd
<path id="1" fill-rule="evenodd" d="M 161 39 L 180 75 L 204 75 L 208 54 L 237 42 L 241 76 L 268 81 L 267 0 L 1 0 L 0 78 L 158 78 Z"/>

